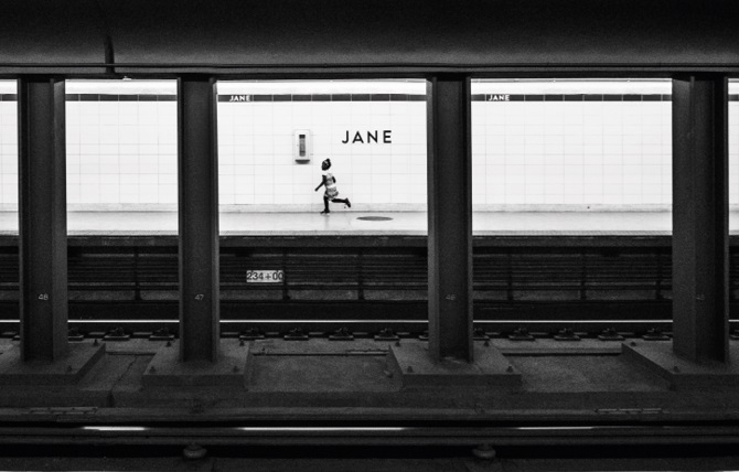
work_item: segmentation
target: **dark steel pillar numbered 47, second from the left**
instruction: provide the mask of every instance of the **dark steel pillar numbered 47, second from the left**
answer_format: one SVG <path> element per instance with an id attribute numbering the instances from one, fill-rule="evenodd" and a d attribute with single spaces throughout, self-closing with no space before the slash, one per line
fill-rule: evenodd
<path id="1" fill-rule="evenodd" d="M 218 161 L 210 77 L 178 81 L 180 361 L 218 358 Z"/>

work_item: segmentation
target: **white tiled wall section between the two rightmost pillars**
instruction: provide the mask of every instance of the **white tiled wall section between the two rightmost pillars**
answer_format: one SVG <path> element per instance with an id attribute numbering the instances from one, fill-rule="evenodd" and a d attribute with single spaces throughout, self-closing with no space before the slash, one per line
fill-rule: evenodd
<path id="1" fill-rule="evenodd" d="M 670 82 L 479 82 L 472 94 L 671 94 Z M 475 208 L 667 206 L 670 101 L 474 101 Z M 533 206 L 532 206 L 533 205 Z"/>

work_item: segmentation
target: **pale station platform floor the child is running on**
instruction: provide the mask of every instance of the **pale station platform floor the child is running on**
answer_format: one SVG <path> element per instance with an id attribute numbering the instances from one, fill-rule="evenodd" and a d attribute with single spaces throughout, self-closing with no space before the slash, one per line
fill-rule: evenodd
<path id="1" fill-rule="evenodd" d="M 363 212 L 335 210 L 313 213 L 222 213 L 224 236 L 425 236 L 425 212 Z M 739 211 L 729 228 L 739 234 Z M 161 235 L 178 232 L 176 212 L 69 212 L 71 236 Z M 495 235 L 614 235 L 668 236 L 671 212 L 475 212 L 475 236 Z M 0 236 L 18 234 L 18 213 L 0 212 Z"/>

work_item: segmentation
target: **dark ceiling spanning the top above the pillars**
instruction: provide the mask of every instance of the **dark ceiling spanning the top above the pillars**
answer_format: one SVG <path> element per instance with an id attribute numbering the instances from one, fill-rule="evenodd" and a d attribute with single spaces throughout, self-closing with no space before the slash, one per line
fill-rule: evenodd
<path id="1" fill-rule="evenodd" d="M 7 73 L 739 66 L 733 0 L 3 0 L 0 19 Z"/>

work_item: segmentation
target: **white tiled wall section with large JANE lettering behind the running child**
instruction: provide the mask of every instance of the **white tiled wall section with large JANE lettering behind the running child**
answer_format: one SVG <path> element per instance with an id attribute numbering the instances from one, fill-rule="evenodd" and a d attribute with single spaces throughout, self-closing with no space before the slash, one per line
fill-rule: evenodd
<path id="1" fill-rule="evenodd" d="M 426 94 L 425 82 L 218 83 L 232 94 Z M 293 132 L 310 131 L 311 162 L 296 163 Z M 392 130 L 392 143 L 342 143 L 346 130 Z M 382 141 L 382 139 L 381 139 Z M 340 196 L 364 210 L 426 207 L 425 101 L 218 103 L 219 203 L 249 210 L 323 206 L 321 162 Z M 270 205 L 281 205 L 276 208 Z"/>

